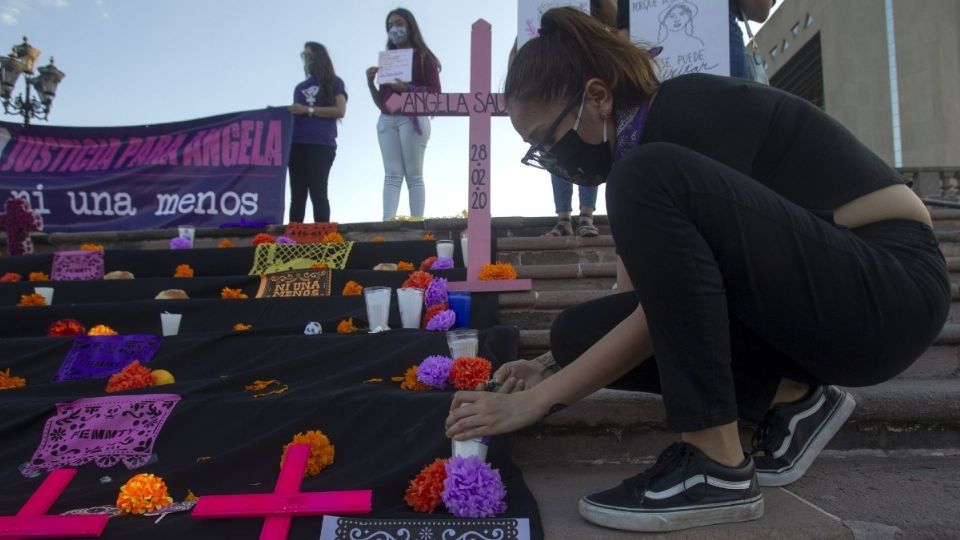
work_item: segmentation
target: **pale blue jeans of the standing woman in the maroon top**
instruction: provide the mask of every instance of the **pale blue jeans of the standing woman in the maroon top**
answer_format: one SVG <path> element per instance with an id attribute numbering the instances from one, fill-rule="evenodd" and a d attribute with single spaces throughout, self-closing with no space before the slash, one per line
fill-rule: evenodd
<path id="1" fill-rule="evenodd" d="M 423 154 L 430 140 L 430 119 L 417 119 L 421 133 L 417 133 L 409 116 L 381 114 L 377 122 L 377 139 L 383 156 L 383 220 L 397 215 L 400 204 L 400 186 L 407 179 L 410 193 L 410 216 L 423 217 L 426 190 L 423 186 Z"/>

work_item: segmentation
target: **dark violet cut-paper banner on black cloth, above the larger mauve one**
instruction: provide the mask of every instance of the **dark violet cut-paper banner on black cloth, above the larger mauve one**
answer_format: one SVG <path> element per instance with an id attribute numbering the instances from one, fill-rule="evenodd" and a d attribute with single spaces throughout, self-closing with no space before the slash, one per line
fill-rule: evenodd
<path id="1" fill-rule="evenodd" d="M 146 334 L 77 336 L 53 380 L 104 379 L 134 360 L 148 365 L 162 339 Z"/>

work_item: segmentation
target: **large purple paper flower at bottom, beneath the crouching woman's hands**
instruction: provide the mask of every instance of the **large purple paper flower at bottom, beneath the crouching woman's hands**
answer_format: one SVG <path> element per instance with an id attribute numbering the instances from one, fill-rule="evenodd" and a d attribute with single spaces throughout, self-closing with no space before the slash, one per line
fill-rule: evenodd
<path id="1" fill-rule="evenodd" d="M 500 472 L 482 459 L 454 456 L 447 461 L 443 504 L 457 517 L 490 517 L 507 511 L 507 489 Z"/>

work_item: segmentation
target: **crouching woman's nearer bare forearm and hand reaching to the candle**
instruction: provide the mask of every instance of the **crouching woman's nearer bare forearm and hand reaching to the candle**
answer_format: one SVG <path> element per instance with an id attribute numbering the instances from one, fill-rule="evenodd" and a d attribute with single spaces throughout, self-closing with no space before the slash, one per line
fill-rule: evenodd
<path id="1" fill-rule="evenodd" d="M 447 416 L 447 436 L 467 440 L 529 426 L 619 379 L 652 355 L 647 317 L 638 307 L 580 358 L 529 390 L 457 392 Z"/>

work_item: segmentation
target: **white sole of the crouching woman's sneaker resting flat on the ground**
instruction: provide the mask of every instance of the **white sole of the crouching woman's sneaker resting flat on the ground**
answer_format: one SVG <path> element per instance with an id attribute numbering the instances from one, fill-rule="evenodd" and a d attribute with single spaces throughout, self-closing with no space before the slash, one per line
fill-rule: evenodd
<path id="1" fill-rule="evenodd" d="M 750 521 L 763 516 L 763 495 L 744 501 L 667 510 L 636 511 L 598 506 L 580 499 L 580 515 L 595 525 L 635 532 L 667 532 Z"/>

